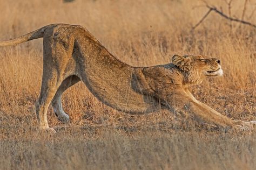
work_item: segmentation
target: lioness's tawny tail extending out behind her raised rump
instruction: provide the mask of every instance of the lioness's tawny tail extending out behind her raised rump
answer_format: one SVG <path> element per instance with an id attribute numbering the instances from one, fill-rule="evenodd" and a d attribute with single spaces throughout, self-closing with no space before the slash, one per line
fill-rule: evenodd
<path id="1" fill-rule="evenodd" d="M 0 46 L 16 45 L 16 44 L 20 44 L 22 42 L 33 40 L 33 39 L 42 38 L 42 37 L 44 37 L 45 29 L 47 29 L 49 26 L 51 26 L 51 25 L 46 25 L 46 26 L 42 27 L 41 29 L 32 31 L 28 34 L 25 34 L 21 37 L 18 37 L 18 38 L 9 40 L 9 41 L 0 41 Z"/>

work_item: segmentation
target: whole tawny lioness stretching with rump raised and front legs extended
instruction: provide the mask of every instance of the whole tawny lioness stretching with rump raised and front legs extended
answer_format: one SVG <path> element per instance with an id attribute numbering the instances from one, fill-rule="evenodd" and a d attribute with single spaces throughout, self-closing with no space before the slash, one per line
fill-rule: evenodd
<path id="1" fill-rule="evenodd" d="M 233 121 L 196 100 L 188 91 L 205 77 L 223 74 L 220 60 L 201 55 L 172 56 L 172 63 L 152 67 L 132 67 L 109 53 L 89 31 L 79 25 L 52 24 L 19 38 L 1 41 L 16 45 L 44 38 L 43 79 L 36 102 L 39 129 L 49 128 L 49 104 L 60 121 L 69 116 L 62 109 L 63 92 L 82 80 L 98 100 L 128 113 L 160 109 L 182 111 L 198 120 L 231 128 L 250 128 L 255 121 Z"/>

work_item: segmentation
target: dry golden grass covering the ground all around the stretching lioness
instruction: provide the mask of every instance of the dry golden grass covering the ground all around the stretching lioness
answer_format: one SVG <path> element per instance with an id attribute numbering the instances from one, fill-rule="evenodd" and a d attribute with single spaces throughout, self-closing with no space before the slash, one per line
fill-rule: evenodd
<path id="1" fill-rule="evenodd" d="M 208 1 L 223 6 L 224 1 Z M 194 87 L 202 102 L 234 119 L 256 119 L 256 30 L 207 11 L 201 1 L 3 1 L 0 39 L 51 23 L 81 24 L 119 59 L 134 66 L 170 61 L 178 54 L 218 56 L 224 77 Z M 242 15 L 244 1 L 232 2 Z M 255 2 L 245 20 L 256 23 Z M 250 17 L 252 13 L 252 16 Z M 106 107 L 84 84 L 66 91 L 62 125 L 49 109 L 57 134 L 36 131 L 34 103 L 42 76 L 42 40 L 0 48 L 0 169 L 254 169 L 255 132 L 228 132 L 187 125 L 170 112 L 132 116 Z"/>

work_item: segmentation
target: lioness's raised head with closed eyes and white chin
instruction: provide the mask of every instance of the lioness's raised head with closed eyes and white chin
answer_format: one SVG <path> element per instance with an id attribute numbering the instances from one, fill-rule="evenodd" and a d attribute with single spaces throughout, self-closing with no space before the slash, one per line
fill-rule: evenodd
<path id="1" fill-rule="evenodd" d="M 204 77 L 221 76 L 220 60 L 203 55 L 173 55 L 172 63 L 187 77 L 188 82 L 200 82 Z"/>

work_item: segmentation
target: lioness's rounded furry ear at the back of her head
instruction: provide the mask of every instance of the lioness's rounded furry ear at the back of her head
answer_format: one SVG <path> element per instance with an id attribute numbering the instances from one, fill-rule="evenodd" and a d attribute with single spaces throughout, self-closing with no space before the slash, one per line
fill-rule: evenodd
<path id="1" fill-rule="evenodd" d="M 180 55 L 172 56 L 172 63 L 179 67 L 181 70 L 188 71 L 190 69 L 191 59 L 189 57 L 184 57 Z"/>

